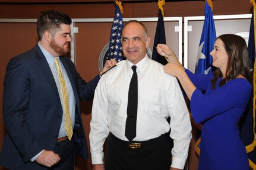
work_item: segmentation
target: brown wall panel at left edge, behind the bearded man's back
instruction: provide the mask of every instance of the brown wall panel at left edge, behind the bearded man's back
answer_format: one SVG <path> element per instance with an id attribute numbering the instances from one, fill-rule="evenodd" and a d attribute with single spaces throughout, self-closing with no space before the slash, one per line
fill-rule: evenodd
<path id="1" fill-rule="evenodd" d="M 6 66 L 11 57 L 30 50 L 38 39 L 35 23 L 0 23 L 0 33 L 2 33 L 2 38 L 0 39 L 0 148 L 2 148 L 5 135 L 2 117 L 2 97 Z M 0 169 L 4 168 L 0 166 Z"/>

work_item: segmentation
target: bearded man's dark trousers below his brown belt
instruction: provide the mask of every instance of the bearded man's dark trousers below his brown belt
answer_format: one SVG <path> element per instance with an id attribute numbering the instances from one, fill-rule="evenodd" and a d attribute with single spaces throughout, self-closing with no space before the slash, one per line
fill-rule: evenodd
<path id="1" fill-rule="evenodd" d="M 61 160 L 53 165 L 50 170 L 74 170 L 74 141 L 64 140 L 57 142 L 54 152 L 61 156 Z"/>

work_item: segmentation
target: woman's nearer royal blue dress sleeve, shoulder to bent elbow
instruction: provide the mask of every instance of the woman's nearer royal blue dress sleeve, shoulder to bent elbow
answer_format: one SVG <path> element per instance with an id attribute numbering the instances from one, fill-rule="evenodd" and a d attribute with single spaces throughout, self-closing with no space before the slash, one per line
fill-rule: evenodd
<path id="1" fill-rule="evenodd" d="M 196 123 L 201 123 L 233 107 L 244 110 L 250 92 L 251 85 L 246 79 L 233 79 L 222 87 L 207 90 L 206 94 L 196 89 L 190 102 L 192 117 Z"/>

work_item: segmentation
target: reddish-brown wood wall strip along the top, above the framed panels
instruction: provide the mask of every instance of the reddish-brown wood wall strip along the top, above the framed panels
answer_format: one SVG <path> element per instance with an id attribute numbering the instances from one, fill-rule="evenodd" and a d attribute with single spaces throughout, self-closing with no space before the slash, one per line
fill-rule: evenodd
<path id="1" fill-rule="evenodd" d="M 1 0 L 7 1 L 7 0 Z M 15 1 L 15 0 L 12 0 Z M 20 0 L 17 0 L 20 1 Z M 29 0 L 27 0 L 29 1 Z M 42 0 L 43 1 L 43 0 Z M 49 0 L 50 1 L 50 0 Z M 112 18 L 115 11 L 114 4 L 17 4 L 1 3 L 0 18 L 37 18 L 42 10 L 57 9 L 71 16 L 71 18 Z M 85 1 L 86 2 L 86 1 Z M 115 1 L 113 1 L 115 2 Z M 157 17 L 158 6 L 156 1 L 142 3 L 123 2 L 123 17 Z M 165 17 L 187 17 L 204 15 L 204 1 L 166 2 Z M 104 10 L 104 12 L 102 12 Z M 214 0 L 213 15 L 251 14 L 252 5 L 249 0 Z"/>

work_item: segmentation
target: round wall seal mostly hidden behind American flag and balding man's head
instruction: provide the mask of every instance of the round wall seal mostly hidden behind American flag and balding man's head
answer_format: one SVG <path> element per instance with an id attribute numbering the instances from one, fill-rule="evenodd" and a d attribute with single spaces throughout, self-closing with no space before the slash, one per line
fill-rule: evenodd
<path id="1" fill-rule="evenodd" d="M 152 52 L 148 47 L 147 47 L 147 56 L 150 57 L 150 59 L 152 57 Z M 100 52 L 99 71 L 101 71 L 104 68 L 106 60 L 109 60 L 109 42 L 103 47 L 102 52 Z"/>

